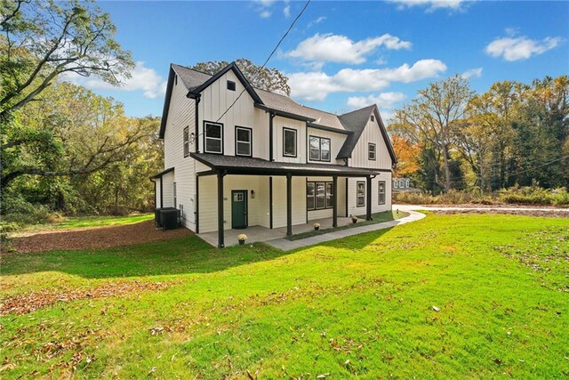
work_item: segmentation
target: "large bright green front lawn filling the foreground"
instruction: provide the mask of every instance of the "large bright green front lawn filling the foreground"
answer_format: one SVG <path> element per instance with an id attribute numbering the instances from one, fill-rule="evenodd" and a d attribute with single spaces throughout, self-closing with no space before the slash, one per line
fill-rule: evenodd
<path id="1" fill-rule="evenodd" d="M 568 258 L 569 220 L 495 214 L 293 253 L 187 237 L 5 255 L 2 297 L 177 285 L 4 316 L 0 377 L 566 378 Z"/>

